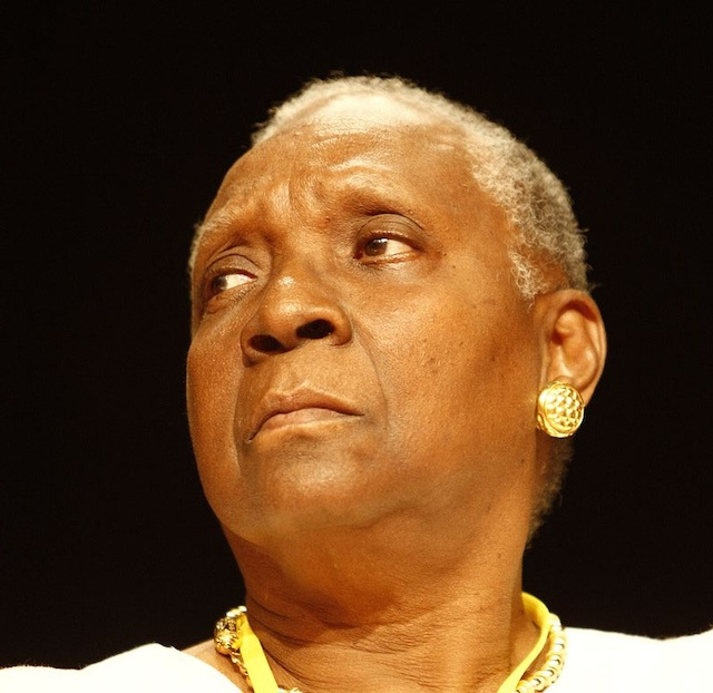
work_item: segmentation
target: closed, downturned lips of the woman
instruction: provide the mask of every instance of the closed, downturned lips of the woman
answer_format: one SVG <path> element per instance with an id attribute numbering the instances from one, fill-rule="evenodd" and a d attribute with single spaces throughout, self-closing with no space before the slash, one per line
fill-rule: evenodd
<path id="1" fill-rule="evenodd" d="M 306 389 L 271 391 L 255 409 L 247 441 L 252 441 L 265 429 L 334 421 L 350 416 L 361 417 L 363 412 L 351 402 L 326 392 Z"/>

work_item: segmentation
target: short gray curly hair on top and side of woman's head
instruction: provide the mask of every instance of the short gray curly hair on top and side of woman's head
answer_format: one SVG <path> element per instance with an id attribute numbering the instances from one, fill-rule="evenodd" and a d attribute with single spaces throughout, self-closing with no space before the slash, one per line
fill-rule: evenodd
<path id="1" fill-rule="evenodd" d="M 253 146 L 341 96 L 384 96 L 446 121 L 463 137 L 476 185 L 502 209 L 516 232 L 509 254 L 515 282 L 526 300 L 561 289 L 588 290 L 584 231 L 569 195 L 547 165 L 508 129 L 473 108 L 398 76 L 312 79 L 256 126 Z M 560 276 L 553 285 L 553 271 Z"/>

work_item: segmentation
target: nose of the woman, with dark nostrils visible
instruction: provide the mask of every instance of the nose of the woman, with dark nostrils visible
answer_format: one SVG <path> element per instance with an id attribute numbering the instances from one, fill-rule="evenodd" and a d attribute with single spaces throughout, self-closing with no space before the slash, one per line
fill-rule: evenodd
<path id="1" fill-rule="evenodd" d="M 318 272 L 293 266 L 265 286 L 243 328 L 241 345 L 247 361 L 256 362 L 305 342 L 344 344 L 351 338 L 351 321 L 333 287 Z"/>

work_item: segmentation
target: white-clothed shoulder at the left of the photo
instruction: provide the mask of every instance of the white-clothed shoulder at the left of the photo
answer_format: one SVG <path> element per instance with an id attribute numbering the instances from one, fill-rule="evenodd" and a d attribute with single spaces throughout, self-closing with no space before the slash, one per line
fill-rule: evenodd
<path id="1" fill-rule="evenodd" d="M 0 670 L 3 693 L 236 693 L 228 679 L 196 656 L 148 644 L 80 670 L 12 666 Z"/>

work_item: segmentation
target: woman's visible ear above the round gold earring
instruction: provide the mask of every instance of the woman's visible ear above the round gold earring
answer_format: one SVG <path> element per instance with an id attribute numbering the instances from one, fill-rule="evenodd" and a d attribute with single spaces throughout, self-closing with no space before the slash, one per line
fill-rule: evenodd
<path id="1" fill-rule="evenodd" d="M 594 394 L 606 358 L 606 333 L 597 304 L 588 294 L 565 289 L 535 299 L 540 328 L 540 388 L 563 380 L 579 390 L 585 404 Z"/>

